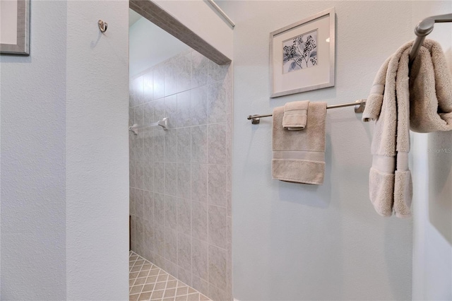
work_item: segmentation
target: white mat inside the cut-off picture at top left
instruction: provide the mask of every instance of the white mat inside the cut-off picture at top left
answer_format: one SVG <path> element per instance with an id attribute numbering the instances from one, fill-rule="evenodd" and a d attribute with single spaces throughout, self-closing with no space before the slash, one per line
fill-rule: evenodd
<path id="1" fill-rule="evenodd" d="M 0 42 L 17 44 L 17 0 L 0 0 Z"/>

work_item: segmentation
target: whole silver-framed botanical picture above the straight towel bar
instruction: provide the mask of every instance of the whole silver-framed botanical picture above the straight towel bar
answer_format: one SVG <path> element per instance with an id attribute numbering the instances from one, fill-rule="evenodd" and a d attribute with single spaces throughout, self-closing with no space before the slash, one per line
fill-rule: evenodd
<path id="1" fill-rule="evenodd" d="M 270 33 L 270 98 L 334 83 L 334 8 Z"/>

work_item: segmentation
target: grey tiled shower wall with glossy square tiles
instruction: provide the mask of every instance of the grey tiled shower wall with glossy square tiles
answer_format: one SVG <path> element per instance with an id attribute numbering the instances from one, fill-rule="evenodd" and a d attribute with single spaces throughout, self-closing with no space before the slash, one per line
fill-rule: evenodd
<path id="1" fill-rule="evenodd" d="M 131 249 L 213 300 L 232 300 L 230 64 L 194 50 L 131 78 Z"/>

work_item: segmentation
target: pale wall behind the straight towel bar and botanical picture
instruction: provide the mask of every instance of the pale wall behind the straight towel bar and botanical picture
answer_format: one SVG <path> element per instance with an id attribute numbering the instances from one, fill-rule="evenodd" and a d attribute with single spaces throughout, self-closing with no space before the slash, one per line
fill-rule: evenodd
<path id="1" fill-rule="evenodd" d="M 222 1 L 234 20 L 232 208 L 237 300 L 410 300 L 412 220 L 369 201 L 371 124 L 328 110 L 322 186 L 271 179 L 271 119 L 295 100 L 367 98 L 383 61 L 412 39 L 412 1 Z M 335 6 L 336 85 L 268 98 L 269 33 Z"/>

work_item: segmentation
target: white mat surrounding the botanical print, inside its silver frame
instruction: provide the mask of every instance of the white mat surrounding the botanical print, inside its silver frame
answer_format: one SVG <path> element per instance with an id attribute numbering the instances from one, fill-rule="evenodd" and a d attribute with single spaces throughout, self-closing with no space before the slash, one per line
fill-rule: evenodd
<path id="1" fill-rule="evenodd" d="M 330 81 L 330 15 L 273 36 L 273 93 L 320 85 Z M 311 30 L 319 29 L 317 36 L 318 65 L 283 74 L 283 41 Z"/>

